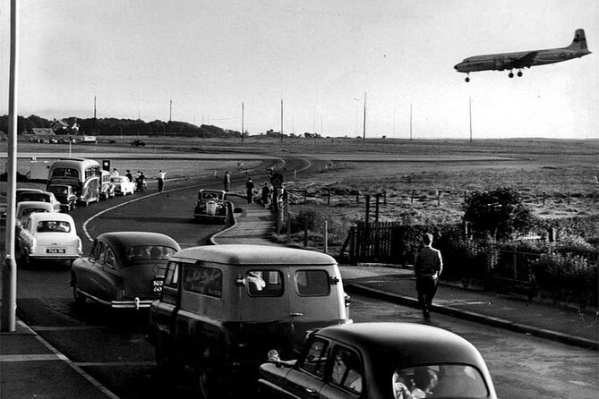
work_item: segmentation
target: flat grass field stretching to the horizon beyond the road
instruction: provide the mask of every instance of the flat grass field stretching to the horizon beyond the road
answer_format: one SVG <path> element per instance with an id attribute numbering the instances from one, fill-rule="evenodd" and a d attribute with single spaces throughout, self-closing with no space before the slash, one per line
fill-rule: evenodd
<path id="1" fill-rule="evenodd" d="M 156 161 L 119 161 L 121 171 L 143 169 L 150 176 L 159 168 L 167 177 L 223 174 L 234 169 L 244 154 L 271 157 L 296 155 L 312 157 L 327 164 L 321 173 L 287 182 L 290 190 L 307 191 L 310 208 L 344 229 L 364 217 L 364 200 L 355 204 L 350 192 L 375 195 L 385 192 L 387 205 L 381 206 L 384 220 L 406 223 L 458 221 L 462 214 L 464 191 L 492 190 L 500 186 L 517 189 L 537 216 L 585 216 L 599 213 L 599 140 L 359 140 L 359 139 L 277 139 L 249 137 L 239 140 L 189 139 L 181 137 L 140 137 L 144 148 L 133 148 L 135 138 L 114 138 L 116 143 L 74 145 L 73 153 L 160 152 L 237 154 L 228 159 L 182 162 L 168 157 Z M 107 141 L 108 138 L 102 138 Z M 0 151 L 5 150 L 2 146 Z M 64 151 L 64 145 L 19 143 L 21 152 Z M 452 160 L 448 161 L 447 157 Z M 483 160 L 472 158 L 483 157 Z M 498 159 L 497 157 L 501 157 Z M 440 159 L 440 160 L 436 160 Z M 20 161 L 23 164 L 24 161 Z M 259 162 L 246 161 L 246 167 Z M 156 171 L 154 171 L 156 169 Z M 327 206 L 327 191 L 332 192 Z M 441 201 L 438 194 L 441 192 Z M 544 200 L 543 200 L 544 198 Z M 303 195 L 297 202 L 303 202 Z M 373 207 L 373 203 L 372 203 Z"/>

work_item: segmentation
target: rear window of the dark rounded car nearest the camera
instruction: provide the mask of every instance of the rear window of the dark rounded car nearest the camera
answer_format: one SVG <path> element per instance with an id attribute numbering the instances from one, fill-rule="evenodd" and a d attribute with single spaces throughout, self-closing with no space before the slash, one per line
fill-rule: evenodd
<path id="1" fill-rule="evenodd" d="M 478 369 L 465 364 L 434 364 L 397 369 L 391 382 L 399 398 L 485 398 L 489 390 Z"/>

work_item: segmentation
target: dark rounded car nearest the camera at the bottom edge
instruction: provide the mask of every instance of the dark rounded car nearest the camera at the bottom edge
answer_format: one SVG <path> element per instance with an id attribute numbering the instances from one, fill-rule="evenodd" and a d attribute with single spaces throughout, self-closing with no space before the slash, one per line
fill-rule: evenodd
<path id="1" fill-rule="evenodd" d="M 268 357 L 260 367 L 261 398 L 497 398 L 475 346 L 439 327 L 325 327 L 308 336 L 297 360 L 281 361 L 277 351 Z"/>

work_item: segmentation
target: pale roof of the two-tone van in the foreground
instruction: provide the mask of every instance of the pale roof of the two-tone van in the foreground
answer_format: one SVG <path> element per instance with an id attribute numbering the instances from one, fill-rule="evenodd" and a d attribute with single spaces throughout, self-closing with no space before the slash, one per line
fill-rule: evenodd
<path id="1" fill-rule="evenodd" d="M 174 258 L 202 260 L 228 265 L 332 265 L 337 264 L 329 255 L 312 250 L 276 247 L 270 245 L 223 244 L 204 245 L 180 250 Z"/>

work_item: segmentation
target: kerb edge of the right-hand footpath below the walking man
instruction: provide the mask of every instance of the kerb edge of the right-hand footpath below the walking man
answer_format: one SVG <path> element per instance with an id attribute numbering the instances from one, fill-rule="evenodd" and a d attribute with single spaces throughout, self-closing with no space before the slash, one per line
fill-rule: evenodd
<path id="1" fill-rule="evenodd" d="M 394 303 L 400 303 L 414 308 L 420 307 L 418 301 L 415 298 L 408 297 L 405 295 L 385 292 L 376 288 L 365 286 L 363 284 L 344 284 L 344 286 L 347 293 L 359 293 L 364 296 L 369 296 L 385 301 L 391 301 Z M 539 329 L 537 327 L 528 326 L 522 323 L 515 323 L 513 321 L 505 320 L 503 318 L 492 318 L 486 315 L 482 315 L 480 313 L 475 313 L 466 310 L 457 310 L 449 306 L 435 305 L 434 303 L 432 304 L 432 309 L 438 313 L 445 314 L 448 316 L 463 318 L 470 321 L 476 321 L 493 327 L 502 327 L 511 331 L 516 331 L 518 333 L 541 336 L 543 338 L 551 339 L 552 341 L 558 341 L 563 344 L 576 345 L 582 348 L 592 349 L 595 351 L 599 349 L 599 343 L 593 340 L 573 335 L 567 335 L 548 329 Z"/>

